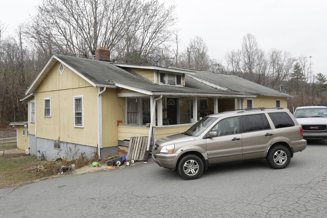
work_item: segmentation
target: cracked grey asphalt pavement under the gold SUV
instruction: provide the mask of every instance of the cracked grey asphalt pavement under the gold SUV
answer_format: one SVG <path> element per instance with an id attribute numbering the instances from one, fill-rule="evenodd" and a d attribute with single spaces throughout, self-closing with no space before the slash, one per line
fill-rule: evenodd
<path id="1" fill-rule="evenodd" d="M 327 217 L 327 140 L 286 169 L 266 160 L 209 167 L 184 180 L 152 159 L 0 189 L 0 217 Z"/>

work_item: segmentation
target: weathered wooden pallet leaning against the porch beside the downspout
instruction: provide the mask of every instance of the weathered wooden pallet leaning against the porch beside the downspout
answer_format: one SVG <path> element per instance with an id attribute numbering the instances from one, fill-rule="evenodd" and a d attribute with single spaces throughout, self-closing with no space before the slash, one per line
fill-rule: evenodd
<path id="1" fill-rule="evenodd" d="M 130 137 L 127 160 L 144 160 L 146 157 L 146 145 L 148 136 Z"/>

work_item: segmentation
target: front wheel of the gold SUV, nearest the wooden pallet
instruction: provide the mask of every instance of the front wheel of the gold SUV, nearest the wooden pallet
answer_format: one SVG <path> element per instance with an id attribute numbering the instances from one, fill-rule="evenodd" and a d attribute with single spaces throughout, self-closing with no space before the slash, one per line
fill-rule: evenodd
<path id="1" fill-rule="evenodd" d="M 184 179 L 197 179 L 203 173 L 203 162 L 197 155 L 186 155 L 178 163 L 178 172 Z"/>

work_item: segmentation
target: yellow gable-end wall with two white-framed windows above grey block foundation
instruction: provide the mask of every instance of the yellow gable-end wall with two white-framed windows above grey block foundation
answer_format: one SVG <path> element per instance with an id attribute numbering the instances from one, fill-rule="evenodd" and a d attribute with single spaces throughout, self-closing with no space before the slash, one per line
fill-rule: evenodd
<path id="1" fill-rule="evenodd" d="M 36 89 L 36 136 L 97 146 L 98 89 L 67 67 L 60 75 L 58 68 L 59 63 Z M 83 96 L 83 128 L 74 127 L 74 95 Z M 44 98 L 51 98 L 51 117 L 44 117 Z"/>

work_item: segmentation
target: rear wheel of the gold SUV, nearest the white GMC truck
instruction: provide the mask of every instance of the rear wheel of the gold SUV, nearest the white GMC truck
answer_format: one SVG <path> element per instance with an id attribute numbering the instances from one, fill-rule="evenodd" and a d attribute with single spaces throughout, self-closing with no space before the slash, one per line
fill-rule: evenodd
<path id="1" fill-rule="evenodd" d="M 272 168 L 284 169 L 291 161 L 290 151 L 283 145 L 275 146 L 269 149 L 267 162 Z"/>

